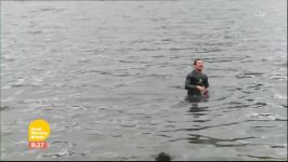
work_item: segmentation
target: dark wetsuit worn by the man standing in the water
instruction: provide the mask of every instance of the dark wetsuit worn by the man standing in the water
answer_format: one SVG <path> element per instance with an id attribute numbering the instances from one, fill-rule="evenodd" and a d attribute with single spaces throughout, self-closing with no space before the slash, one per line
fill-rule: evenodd
<path id="1" fill-rule="evenodd" d="M 201 92 L 196 87 L 196 85 L 209 87 L 208 77 L 200 71 L 194 69 L 187 75 L 185 82 L 185 90 L 187 90 L 187 95 L 201 95 Z"/>

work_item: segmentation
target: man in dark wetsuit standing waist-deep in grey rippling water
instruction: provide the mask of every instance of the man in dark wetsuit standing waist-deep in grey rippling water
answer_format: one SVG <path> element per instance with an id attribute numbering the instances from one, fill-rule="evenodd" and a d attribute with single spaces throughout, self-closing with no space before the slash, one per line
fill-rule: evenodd
<path id="1" fill-rule="evenodd" d="M 202 73 L 204 62 L 202 59 L 194 60 L 194 70 L 186 77 L 185 90 L 188 96 L 201 96 L 208 94 L 208 77 Z"/>

